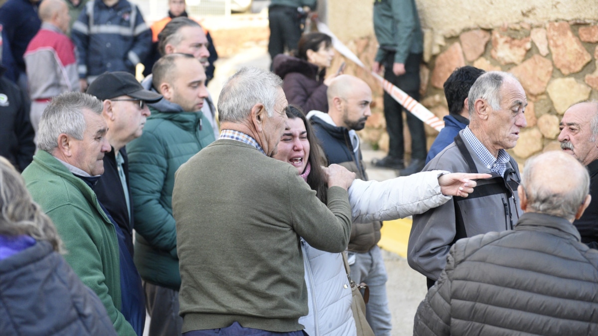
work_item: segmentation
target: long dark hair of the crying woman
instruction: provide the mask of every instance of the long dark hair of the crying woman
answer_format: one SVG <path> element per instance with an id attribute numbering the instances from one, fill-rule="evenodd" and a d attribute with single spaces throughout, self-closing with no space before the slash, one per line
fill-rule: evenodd
<path id="1" fill-rule="evenodd" d="M 307 131 L 307 141 L 309 141 L 309 157 L 307 162 L 312 166 L 312 170 L 307 175 L 307 184 L 312 190 L 316 191 L 316 196 L 322 203 L 327 203 L 328 180 L 324 173 L 323 157 L 321 155 L 320 146 L 318 145 L 318 138 L 313 133 L 312 125 L 307 121 L 303 111 L 297 105 L 289 105 L 285 109 L 286 117 L 289 119 L 301 119 Z"/>

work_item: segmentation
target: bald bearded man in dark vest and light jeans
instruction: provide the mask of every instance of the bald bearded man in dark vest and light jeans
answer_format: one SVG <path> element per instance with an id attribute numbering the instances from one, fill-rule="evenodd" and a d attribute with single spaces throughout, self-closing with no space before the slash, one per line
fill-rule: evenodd
<path id="1" fill-rule="evenodd" d="M 312 111 L 307 118 L 320 140 L 328 164 L 336 163 L 367 180 L 365 166 L 355 131 L 365 127 L 371 115 L 371 89 L 351 75 L 340 75 L 328 87 L 328 113 Z M 378 335 L 390 334 L 390 310 L 386 296 L 386 268 L 377 243 L 382 222 L 353 222 L 348 246 L 351 279 L 370 288 L 367 320 Z"/>

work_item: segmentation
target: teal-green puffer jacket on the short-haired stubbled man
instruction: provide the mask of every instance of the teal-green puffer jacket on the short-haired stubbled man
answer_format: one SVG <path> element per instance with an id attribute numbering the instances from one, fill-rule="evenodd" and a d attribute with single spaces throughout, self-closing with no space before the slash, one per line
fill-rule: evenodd
<path id="1" fill-rule="evenodd" d="M 179 290 L 172 188 L 181 164 L 212 143 L 214 132 L 201 111 L 182 112 L 162 100 L 151 108 L 144 134 L 127 144 L 135 206 L 135 265 L 145 281 Z"/>

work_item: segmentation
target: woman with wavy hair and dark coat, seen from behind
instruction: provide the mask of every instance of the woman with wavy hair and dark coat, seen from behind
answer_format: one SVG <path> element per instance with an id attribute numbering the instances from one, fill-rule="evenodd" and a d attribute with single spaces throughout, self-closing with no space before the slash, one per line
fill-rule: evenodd
<path id="1" fill-rule="evenodd" d="M 0 335 L 116 335 L 102 301 L 60 255 L 51 219 L 0 157 Z"/>

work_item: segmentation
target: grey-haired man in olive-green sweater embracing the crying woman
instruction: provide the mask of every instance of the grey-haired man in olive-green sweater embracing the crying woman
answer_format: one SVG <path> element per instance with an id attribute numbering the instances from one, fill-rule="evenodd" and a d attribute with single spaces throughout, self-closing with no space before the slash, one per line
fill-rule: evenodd
<path id="1" fill-rule="evenodd" d="M 282 80 L 257 68 L 229 78 L 218 99 L 220 137 L 183 164 L 172 195 L 185 335 L 303 335 L 307 314 L 300 237 L 342 252 L 347 188 L 328 172 L 328 205 L 288 163 L 271 158 L 285 130 Z M 257 329 L 257 330 L 255 330 Z"/>

